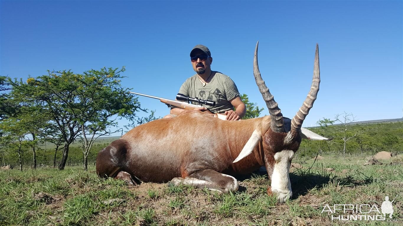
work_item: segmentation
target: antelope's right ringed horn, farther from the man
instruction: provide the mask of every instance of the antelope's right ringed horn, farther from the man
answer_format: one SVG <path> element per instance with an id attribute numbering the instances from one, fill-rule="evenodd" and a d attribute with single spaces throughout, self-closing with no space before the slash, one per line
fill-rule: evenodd
<path id="1" fill-rule="evenodd" d="M 315 53 L 315 63 L 314 63 L 314 76 L 312 78 L 312 86 L 311 90 L 308 93 L 305 101 L 303 102 L 301 108 L 291 120 L 291 130 L 300 130 L 302 126 L 302 122 L 305 117 L 308 115 L 309 110 L 314 105 L 316 100 L 316 95 L 319 91 L 319 83 L 320 83 L 320 69 L 319 69 L 319 47 L 318 43 L 316 43 L 316 53 Z"/>

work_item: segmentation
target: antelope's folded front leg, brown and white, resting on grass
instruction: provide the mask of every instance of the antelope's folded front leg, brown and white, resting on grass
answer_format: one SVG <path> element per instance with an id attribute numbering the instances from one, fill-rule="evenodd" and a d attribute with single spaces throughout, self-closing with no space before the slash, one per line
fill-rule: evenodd
<path id="1" fill-rule="evenodd" d="M 207 187 L 210 190 L 222 193 L 238 190 L 237 179 L 230 175 L 218 173 L 212 169 L 199 170 L 184 179 L 175 177 L 170 181 L 170 184 L 173 185 L 180 185 L 181 183 L 198 188 Z"/>

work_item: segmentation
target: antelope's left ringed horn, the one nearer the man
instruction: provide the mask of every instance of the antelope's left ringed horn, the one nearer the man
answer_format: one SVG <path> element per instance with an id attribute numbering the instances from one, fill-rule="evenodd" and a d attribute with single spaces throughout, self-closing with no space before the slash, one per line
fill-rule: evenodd
<path id="1" fill-rule="evenodd" d="M 278 108 L 277 102 L 274 100 L 274 96 L 270 94 L 269 88 L 264 83 L 262 76 L 260 75 L 258 65 L 258 46 L 259 41 L 256 43 L 255 57 L 253 58 L 253 75 L 255 76 L 256 85 L 258 85 L 259 91 L 262 94 L 263 100 L 266 102 L 266 106 L 269 109 L 271 123 L 270 128 L 274 132 L 284 132 L 283 114 L 281 114 L 280 108 Z"/>

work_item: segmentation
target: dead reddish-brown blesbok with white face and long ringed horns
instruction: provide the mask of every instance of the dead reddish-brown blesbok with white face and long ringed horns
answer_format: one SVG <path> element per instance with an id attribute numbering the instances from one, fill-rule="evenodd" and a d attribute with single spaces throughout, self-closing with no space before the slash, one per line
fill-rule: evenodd
<path id="1" fill-rule="evenodd" d="M 280 202 L 289 199 L 289 168 L 301 138 L 326 139 L 301 128 L 319 90 L 318 44 L 311 90 L 292 120 L 283 118 L 260 75 L 258 44 L 253 74 L 269 116 L 226 121 L 189 110 L 142 124 L 98 153 L 97 174 L 130 184 L 170 181 L 225 193 L 238 189 L 231 175 L 251 173 L 264 165 L 271 179 L 268 194 L 275 193 Z"/>

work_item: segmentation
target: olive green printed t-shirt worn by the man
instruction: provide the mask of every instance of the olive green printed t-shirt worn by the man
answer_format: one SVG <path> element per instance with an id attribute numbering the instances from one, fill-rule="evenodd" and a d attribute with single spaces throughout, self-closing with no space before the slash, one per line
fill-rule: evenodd
<path id="1" fill-rule="evenodd" d="M 180 94 L 184 94 L 191 98 L 199 98 L 202 100 L 211 100 L 216 102 L 216 106 L 206 107 L 213 113 L 224 113 L 228 110 L 233 110 L 231 100 L 239 96 L 238 88 L 232 79 L 218 71 L 212 71 L 210 82 L 203 86 L 202 82 L 197 77 L 197 74 L 188 78 L 179 89 Z M 192 102 L 192 104 L 197 104 Z"/>

